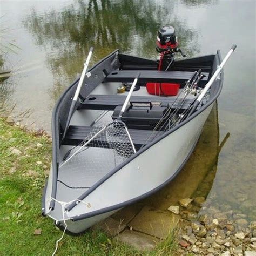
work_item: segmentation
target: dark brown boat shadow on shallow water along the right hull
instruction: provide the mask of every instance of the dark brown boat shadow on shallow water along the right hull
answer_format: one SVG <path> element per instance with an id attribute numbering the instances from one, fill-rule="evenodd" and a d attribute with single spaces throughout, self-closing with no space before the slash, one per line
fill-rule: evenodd
<path id="1" fill-rule="evenodd" d="M 127 225 L 132 223 L 134 230 L 138 229 L 141 232 L 152 230 L 153 232 L 153 229 L 149 228 L 152 223 L 148 221 L 150 218 L 147 215 L 152 215 L 153 212 L 158 213 L 159 210 L 161 212 L 166 211 L 169 206 L 178 205 L 179 199 L 199 196 L 207 198 L 217 171 L 219 153 L 229 136 L 230 134 L 227 133 L 224 140 L 219 144 L 218 110 L 216 103 L 206 120 L 196 149 L 194 149 L 190 159 L 178 176 L 151 197 L 124 208 L 114 214 L 113 218 L 118 221 L 122 220 Z M 156 170 L 156 172 L 158 171 L 160 170 Z M 210 204 L 210 201 L 207 202 L 206 199 L 206 204 L 208 203 Z M 149 207 L 150 211 L 145 211 Z M 192 204 L 188 210 L 198 213 L 201 209 Z M 161 226 L 162 218 L 160 217 L 159 220 L 154 220 L 159 222 L 159 227 Z M 164 233 L 168 232 L 164 231 Z"/>

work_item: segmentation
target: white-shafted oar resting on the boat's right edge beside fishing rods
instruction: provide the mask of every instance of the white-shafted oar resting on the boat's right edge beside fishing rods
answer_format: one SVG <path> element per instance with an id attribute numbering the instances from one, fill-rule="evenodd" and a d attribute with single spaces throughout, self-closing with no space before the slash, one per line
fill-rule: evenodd
<path id="1" fill-rule="evenodd" d="M 209 80 L 209 82 L 205 85 L 203 91 L 201 91 L 200 95 L 198 96 L 198 98 L 196 99 L 196 102 L 194 102 L 193 107 L 191 109 L 191 111 L 188 113 L 187 117 L 190 117 L 191 114 L 194 113 L 194 111 L 197 109 L 199 103 L 201 102 L 201 100 L 204 98 L 206 92 L 210 89 L 211 85 L 213 84 L 213 82 L 217 79 L 217 77 L 219 76 L 220 71 L 223 69 L 224 65 L 226 64 L 227 60 L 230 58 L 230 56 L 232 55 L 233 51 L 235 50 L 235 48 L 237 48 L 237 45 L 233 44 L 233 46 L 231 47 L 230 51 L 227 53 L 226 57 L 224 58 L 223 62 L 220 63 L 220 65 L 218 66 L 217 70 L 214 72 L 214 74 L 212 75 L 211 79 Z"/>

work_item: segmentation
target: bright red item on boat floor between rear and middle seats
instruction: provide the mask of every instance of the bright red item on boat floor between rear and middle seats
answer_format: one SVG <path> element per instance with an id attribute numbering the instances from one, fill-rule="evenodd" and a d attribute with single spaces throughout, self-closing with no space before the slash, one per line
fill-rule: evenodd
<path id="1" fill-rule="evenodd" d="M 147 92 L 152 95 L 176 96 L 180 84 L 172 83 L 147 83 Z"/>

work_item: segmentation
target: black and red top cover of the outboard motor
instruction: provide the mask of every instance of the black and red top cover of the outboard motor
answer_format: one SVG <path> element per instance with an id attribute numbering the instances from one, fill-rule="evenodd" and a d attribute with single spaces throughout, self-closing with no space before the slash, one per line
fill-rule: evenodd
<path id="1" fill-rule="evenodd" d="M 158 30 L 157 50 L 159 52 L 166 50 L 174 50 L 179 45 L 178 37 L 173 26 L 166 25 Z"/>

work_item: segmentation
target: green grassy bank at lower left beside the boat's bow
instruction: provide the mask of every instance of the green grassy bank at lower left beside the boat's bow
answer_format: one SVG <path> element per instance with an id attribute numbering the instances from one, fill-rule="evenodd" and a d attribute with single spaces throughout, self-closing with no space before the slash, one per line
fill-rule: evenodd
<path id="1" fill-rule="evenodd" d="M 37 146 L 40 143 L 42 146 Z M 12 148 L 21 151 L 17 156 Z M 37 137 L 0 118 L 0 255 L 51 255 L 62 232 L 41 216 L 41 195 L 51 161 L 49 138 Z M 42 230 L 34 235 L 35 229 Z M 100 231 L 64 235 L 57 255 L 172 255 L 174 234 L 150 252 L 134 250 Z"/>

